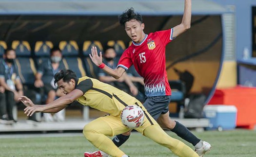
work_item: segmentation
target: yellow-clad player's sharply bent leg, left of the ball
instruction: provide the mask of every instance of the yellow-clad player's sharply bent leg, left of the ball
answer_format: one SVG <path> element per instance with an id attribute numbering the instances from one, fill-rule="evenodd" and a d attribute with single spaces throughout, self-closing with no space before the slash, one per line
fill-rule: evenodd
<path id="1" fill-rule="evenodd" d="M 120 121 L 120 117 L 100 117 L 84 126 L 83 135 L 99 150 L 113 157 L 122 157 L 125 154 L 107 136 L 127 132 L 129 129 Z"/>

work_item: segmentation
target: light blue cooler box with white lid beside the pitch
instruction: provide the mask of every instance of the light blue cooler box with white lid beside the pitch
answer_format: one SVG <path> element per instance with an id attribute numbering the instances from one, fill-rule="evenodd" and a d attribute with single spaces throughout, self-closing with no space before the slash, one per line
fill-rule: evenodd
<path id="1" fill-rule="evenodd" d="M 203 108 L 205 118 L 210 120 L 207 130 L 230 130 L 236 127 L 237 109 L 234 105 L 205 105 Z"/>

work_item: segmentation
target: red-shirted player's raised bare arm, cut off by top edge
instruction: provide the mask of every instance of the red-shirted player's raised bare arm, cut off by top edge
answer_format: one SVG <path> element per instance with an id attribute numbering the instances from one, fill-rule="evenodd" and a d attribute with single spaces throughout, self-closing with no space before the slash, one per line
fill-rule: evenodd
<path id="1" fill-rule="evenodd" d="M 177 37 L 178 35 L 184 33 L 190 28 L 191 24 L 191 0 L 185 0 L 184 14 L 182 21 L 179 25 L 175 26 L 173 29 L 173 36 Z"/>

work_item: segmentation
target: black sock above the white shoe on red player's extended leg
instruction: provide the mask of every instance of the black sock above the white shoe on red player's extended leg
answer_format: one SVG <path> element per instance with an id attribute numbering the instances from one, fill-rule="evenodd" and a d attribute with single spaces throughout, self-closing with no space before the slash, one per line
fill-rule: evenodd
<path id="1" fill-rule="evenodd" d="M 176 133 L 177 136 L 179 136 L 183 140 L 192 143 L 194 146 L 200 141 L 200 139 L 198 139 L 194 134 L 192 134 L 192 132 L 190 132 L 188 128 L 186 128 L 184 125 L 177 121 L 175 122 L 176 125 L 171 131 Z"/>

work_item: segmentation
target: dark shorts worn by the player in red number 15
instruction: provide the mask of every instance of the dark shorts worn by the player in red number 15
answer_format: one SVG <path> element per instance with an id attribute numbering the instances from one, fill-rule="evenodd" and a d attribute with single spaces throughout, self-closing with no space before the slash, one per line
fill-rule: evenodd
<path id="1" fill-rule="evenodd" d="M 146 97 L 143 105 L 148 113 L 157 120 L 161 114 L 165 114 L 169 111 L 170 101 L 171 95 Z"/>

